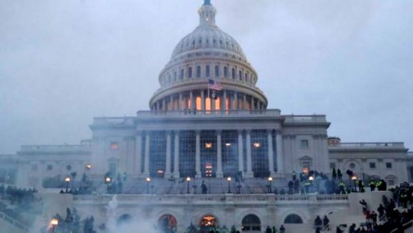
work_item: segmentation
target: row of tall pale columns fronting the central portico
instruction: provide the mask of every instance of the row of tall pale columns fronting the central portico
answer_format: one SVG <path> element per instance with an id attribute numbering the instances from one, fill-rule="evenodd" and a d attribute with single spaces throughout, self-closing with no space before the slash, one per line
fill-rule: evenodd
<path id="1" fill-rule="evenodd" d="M 246 172 L 244 172 L 244 145 L 242 140 L 242 133 L 244 130 L 238 130 L 238 169 L 243 172 L 247 178 L 253 177 L 252 166 L 252 151 L 251 151 L 251 130 L 246 131 Z M 275 176 L 274 169 L 274 153 L 273 153 L 273 130 L 267 131 L 268 137 L 268 163 L 269 172 L 271 176 Z M 169 178 L 173 175 L 176 178 L 180 177 L 179 172 L 179 130 L 174 131 L 174 161 L 173 161 L 173 174 L 171 172 L 171 131 L 167 131 L 167 148 L 166 148 L 166 165 L 165 165 L 165 178 Z M 222 130 L 216 130 L 217 132 L 217 170 L 216 176 L 222 178 Z M 284 174 L 284 157 L 282 154 L 282 132 L 275 130 L 275 142 L 277 151 L 277 174 Z M 142 161 L 142 132 L 136 136 L 136 165 L 138 167 L 138 174 L 149 176 L 149 152 L 150 152 L 150 132 L 145 132 L 145 150 L 144 150 L 144 170 L 140 170 Z M 200 130 L 195 130 L 195 172 L 196 178 L 200 178 L 201 175 L 201 145 L 200 145 Z"/>

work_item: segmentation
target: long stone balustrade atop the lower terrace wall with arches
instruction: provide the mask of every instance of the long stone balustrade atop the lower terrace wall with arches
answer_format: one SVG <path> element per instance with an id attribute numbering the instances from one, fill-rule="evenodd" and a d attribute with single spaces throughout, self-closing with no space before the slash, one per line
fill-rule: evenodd
<path id="1" fill-rule="evenodd" d="M 114 199 L 111 195 L 102 196 L 74 196 L 75 203 L 104 204 Z M 335 201 L 335 203 L 348 203 L 348 195 L 273 195 L 273 194 L 222 194 L 222 195 L 118 195 L 116 201 L 122 204 L 203 204 L 203 203 L 320 203 Z"/>

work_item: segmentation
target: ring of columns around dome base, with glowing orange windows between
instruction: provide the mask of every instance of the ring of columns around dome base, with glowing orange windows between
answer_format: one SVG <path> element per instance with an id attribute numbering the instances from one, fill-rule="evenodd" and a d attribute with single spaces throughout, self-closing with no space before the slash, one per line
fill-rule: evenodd
<path id="1" fill-rule="evenodd" d="M 208 94 L 207 90 L 200 90 L 194 94 L 194 91 L 180 92 L 178 95 L 170 95 L 165 97 L 160 101 L 157 101 L 151 107 L 153 111 L 167 111 L 167 110 L 193 110 L 198 109 L 202 112 L 206 111 Z M 212 90 L 210 90 L 212 92 Z M 199 94 L 198 94 L 199 93 Z M 211 95 L 211 93 L 210 93 Z M 197 106 L 196 99 L 200 97 L 201 105 Z M 248 97 L 248 98 L 247 98 Z M 247 100 L 248 99 L 248 100 Z M 220 97 L 220 110 L 264 110 L 266 106 L 259 99 L 249 96 L 247 94 L 238 93 L 238 92 L 227 92 L 226 90 L 222 91 Z M 226 108 L 226 101 L 229 101 L 229 107 Z M 249 102 L 249 103 L 248 103 Z M 250 108 L 247 108 L 250 106 Z M 215 110 L 215 101 L 211 101 L 211 110 Z"/>

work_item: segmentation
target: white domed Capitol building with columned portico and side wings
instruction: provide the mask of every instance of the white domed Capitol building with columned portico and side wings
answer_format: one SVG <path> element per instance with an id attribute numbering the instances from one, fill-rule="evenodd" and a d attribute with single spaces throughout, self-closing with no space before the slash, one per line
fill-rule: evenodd
<path id="1" fill-rule="evenodd" d="M 256 86 L 257 71 L 218 27 L 217 10 L 205 1 L 198 13 L 199 26 L 178 42 L 160 71 L 149 110 L 95 118 L 91 139 L 79 145 L 22 145 L 16 155 L 0 156 L 2 168 L 17 171 L 12 177 L 17 185 L 40 192 L 47 190 L 45 179 L 72 172 L 87 172 L 103 186 L 107 172 L 127 176 L 125 194 L 116 197 L 116 218 L 134 218 L 138 210 L 150 219 L 173 216 L 178 232 L 205 221 L 244 226 L 244 232 L 281 224 L 299 230 L 317 215 L 332 214 L 334 221 L 335 212 L 359 212 L 348 195 L 267 194 L 268 177 L 274 188 L 283 188 L 303 169 L 352 170 L 359 179 L 380 178 L 388 185 L 412 181 L 413 154 L 403 142 L 345 143 L 328 135 L 330 122 L 323 114 L 268 109 L 271 99 Z M 221 90 L 210 88 L 210 80 Z M 234 178 L 239 174 L 240 185 Z M 208 194 L 200 194 L 202 182 Z M 74 196 L 67 203 L 96 213 L 101 223 L 112 199 Z"/>

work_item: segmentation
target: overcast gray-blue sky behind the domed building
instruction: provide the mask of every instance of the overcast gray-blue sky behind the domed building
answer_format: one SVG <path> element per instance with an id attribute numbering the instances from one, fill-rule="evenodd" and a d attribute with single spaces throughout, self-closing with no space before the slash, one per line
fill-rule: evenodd
<path id="1" fill-rule="evenodd" d="M 413 1 L 213 0 L 268 108 L 326 114 L 342 141 L 413 148 Z M 0 0 L 0 153 L 78 143 L 147 110 L 202 0 Z"/>

